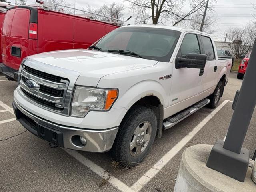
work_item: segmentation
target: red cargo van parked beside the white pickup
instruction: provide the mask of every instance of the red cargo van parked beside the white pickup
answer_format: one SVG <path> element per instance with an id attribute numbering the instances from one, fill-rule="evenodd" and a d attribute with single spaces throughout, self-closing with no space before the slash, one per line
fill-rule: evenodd
<path id="1" fill-rule="evenodd" d="M 0 72 L 17 80 L 22 59 L 54 50 L 88 48 L 96 40 L 118 28 L 40 7 L 15 6 L 6 12 L 2 26 Z"/>

